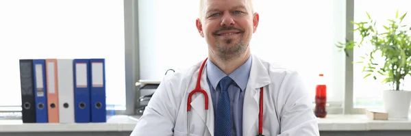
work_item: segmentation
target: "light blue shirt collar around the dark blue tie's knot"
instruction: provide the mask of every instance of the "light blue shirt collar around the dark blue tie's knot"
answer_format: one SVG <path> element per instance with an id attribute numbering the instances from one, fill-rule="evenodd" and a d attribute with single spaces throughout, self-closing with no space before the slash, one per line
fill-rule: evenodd
<path id="1" fill-rule="evenodd" d="M 251 70 L 251 61 L 252 57 L 250 55 L 244 64 L 242 64 L 240 67 L 238 67 L 228 75 L 234 80 L 238 87 L 240 87 L 241 91 L 244 91 L 245 87 L 247 87 L 247 82 Z M 213 64 L 210 59 L 207 60 L 206 70 L 207 78 L 210 81 L 212 87 L 214 87 L 214 90 L 216 90 L 220 80 L 223 79 L 223 77 L 226 77 L 227 74 L 225 74 L 219 67 Z"/>

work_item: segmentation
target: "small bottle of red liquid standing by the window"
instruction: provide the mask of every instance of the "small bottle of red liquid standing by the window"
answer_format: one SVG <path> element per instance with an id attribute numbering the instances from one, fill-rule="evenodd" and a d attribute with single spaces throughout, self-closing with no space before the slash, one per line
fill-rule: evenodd
<path id="1" fill-rule="evenodd" d="M 314 113 L 316 117 L 325 118 L 327 115 L 327 111 L 325 111 L 325 105 L 327 104 L 327 85 L 324 74 L 319 74 L 319 84 L 316 85 L 315 104 Z"/>

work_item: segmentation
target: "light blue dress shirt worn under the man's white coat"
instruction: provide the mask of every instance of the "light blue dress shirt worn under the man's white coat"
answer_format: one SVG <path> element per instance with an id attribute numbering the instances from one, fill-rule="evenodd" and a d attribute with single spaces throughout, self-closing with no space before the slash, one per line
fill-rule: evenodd
<path id="1" fill-rule="evenodd" d="M 232 112 L 232 135 L 242 136 L 242 104 L 244 102 L 245 87 L 247 87 L 247 82 L 249 79 L 249 74 L 251 70 L 251 55 L 247 59 L 247 62 L 242 64 L 228 76 L 234 80 L 234 83 L 228 87 L 228 94 Z M 221 88 L 219 87 L 219 82 L 223 77 L 227 75 L 220 70 L 216 65 L 207 61 L 207 81 L 210 86 L 212 105 L 214 112 L 216 111 L 216 105 L 219 101 L 219 94 Z"/>

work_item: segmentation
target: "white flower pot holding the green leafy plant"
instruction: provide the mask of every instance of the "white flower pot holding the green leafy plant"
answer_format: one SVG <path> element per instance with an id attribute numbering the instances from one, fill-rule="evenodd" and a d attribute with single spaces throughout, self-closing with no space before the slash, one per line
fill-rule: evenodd
<path id="1" fill-rule="evenodd" d="M 410 91 L 385 90 L 382 97 L 388 120 L 408 120 L 411 103 Z"/>

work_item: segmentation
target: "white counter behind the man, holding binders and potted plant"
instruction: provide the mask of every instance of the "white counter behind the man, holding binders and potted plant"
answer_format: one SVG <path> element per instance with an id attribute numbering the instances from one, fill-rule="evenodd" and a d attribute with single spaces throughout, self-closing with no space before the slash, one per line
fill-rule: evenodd
<path id="1" fill-rule="evenodd" d="M 114 115 L 106 123 L 23 124 L 21 120 L 0 120 L 0 135 L 69 136 L 129 135 L 140 116 Z M 369 120 L 365 115 L 327 115 L 319 118 L 321 136 L 411 135 L 411 120 Z"/>

